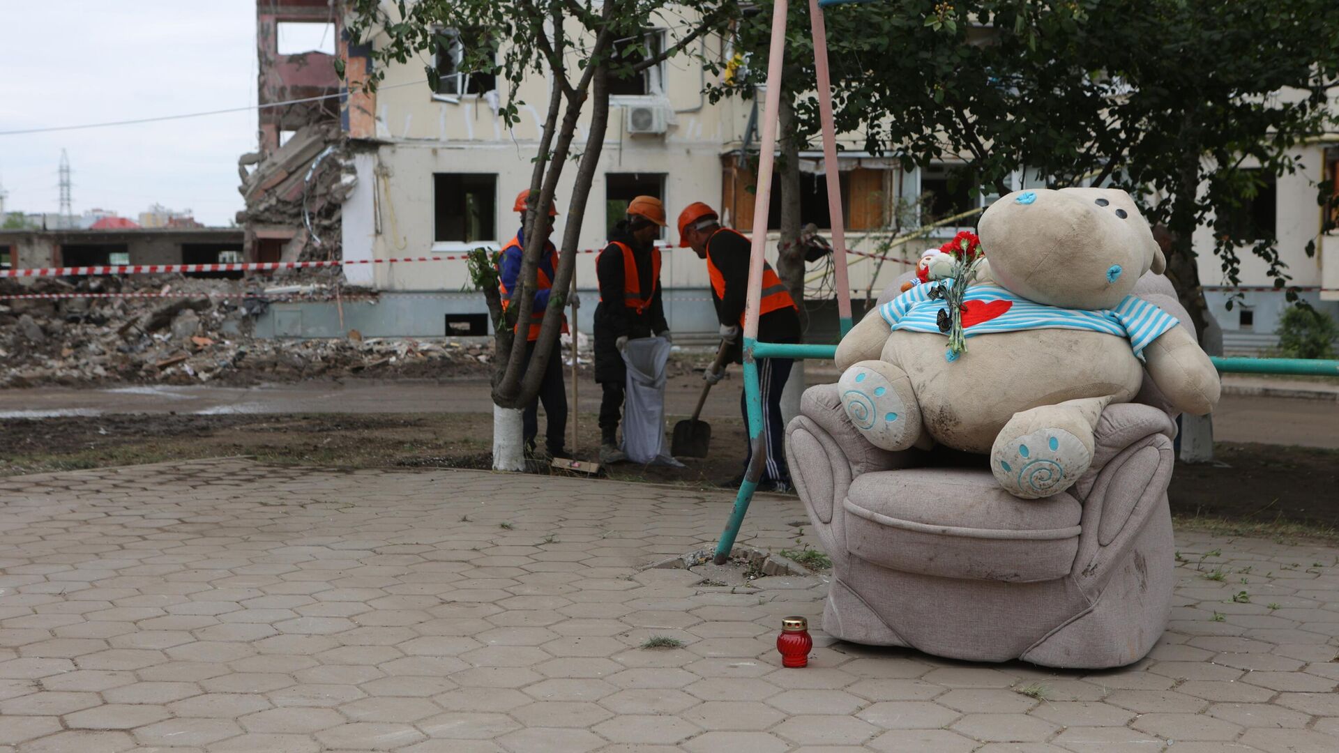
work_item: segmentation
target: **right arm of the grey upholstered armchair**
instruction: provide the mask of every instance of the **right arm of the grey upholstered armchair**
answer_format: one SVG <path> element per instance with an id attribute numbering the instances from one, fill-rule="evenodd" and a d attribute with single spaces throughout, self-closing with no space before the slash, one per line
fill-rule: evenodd
<path id="1" fill-rule="evenodd" d="M 1093 466 L 1070 489 L 1083 502 L 1079 586 L 1101 586 L 1153 516 L 1168 516 L 1176 425 L 1139 403 L 1107 406 L 1094 431 Z"/>

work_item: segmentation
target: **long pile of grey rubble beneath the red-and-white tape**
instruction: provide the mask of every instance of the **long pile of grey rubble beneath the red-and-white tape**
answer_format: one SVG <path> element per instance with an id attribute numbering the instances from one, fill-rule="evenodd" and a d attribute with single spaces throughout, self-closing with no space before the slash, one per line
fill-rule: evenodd
<path id="1" fill-rule="evenodd" d="M 0 299 L 0 387 L 90 383 L 254 385 L 340 376 L 487 375 L 491 344 L 253 338 L 273 300 L 261 283 L 154 277 L 0 280 L 0 296 L 159 292 L 182 297 Z M 242 295 L 221 295 L 242 293 Z"/>

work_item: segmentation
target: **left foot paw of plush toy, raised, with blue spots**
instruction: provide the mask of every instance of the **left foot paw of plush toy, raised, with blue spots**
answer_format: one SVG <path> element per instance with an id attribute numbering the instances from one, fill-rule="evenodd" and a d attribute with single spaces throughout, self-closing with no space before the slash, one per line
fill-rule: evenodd
<path id="1" fill-rule="evenodd" d="M 862 360 L 848 368 L 837 386 L 846 417 L 869 443 L 897 452 L 920 438 L 920 405 L 901 368 L 882 360 Z"/>

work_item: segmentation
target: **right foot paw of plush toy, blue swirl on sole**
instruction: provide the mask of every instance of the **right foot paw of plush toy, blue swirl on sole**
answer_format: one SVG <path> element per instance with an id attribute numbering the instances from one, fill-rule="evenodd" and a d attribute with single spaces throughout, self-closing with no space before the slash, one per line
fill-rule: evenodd
<path id="1" fill-rule="evenodd" d="M 995 441 L 991 470 L 1006 492 L 1024 500 L 1069 489 L 1093 464 L 1093 450 L 1065 429 L 1046 427 L 1008 441 Z"/>

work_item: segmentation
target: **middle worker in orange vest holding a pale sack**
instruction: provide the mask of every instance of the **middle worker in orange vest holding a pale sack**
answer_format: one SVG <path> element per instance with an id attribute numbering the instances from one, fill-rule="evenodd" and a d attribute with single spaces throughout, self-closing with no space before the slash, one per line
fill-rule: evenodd
<path id="1" fill-rule="evenodd" d="M 655 240 L 665 225 L 659 198 L 639 196 L 628 216 L 609 233 L 596 260 L 600 304 L 595 308 L 595 381 L 600 383 L 600 462 L 624 460 L 619 449 L 627 367 L 623 348 L 629 339 L 671 338 L 660 300 L 660 249 Z"/>

